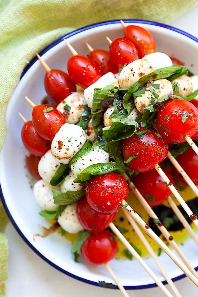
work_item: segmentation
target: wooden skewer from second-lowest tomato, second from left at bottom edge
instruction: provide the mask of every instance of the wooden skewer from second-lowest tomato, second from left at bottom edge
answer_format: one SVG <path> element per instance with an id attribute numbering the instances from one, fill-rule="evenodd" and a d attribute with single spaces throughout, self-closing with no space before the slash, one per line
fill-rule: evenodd
<path id="1" fill-rule="evenodd" d="M 123 200 L 124 201 L 124 200 Z M 126 204 L 126 201 L 123 202 L 123 205 Z M 131 246 L 131 244 L 127 241 L 127 239 L 122 235 L 122 233 L 116 228 L 113 223 L 109 224 L 111 230 L 115 233 L 115 235 L 120 239 L 120 241 L 125 245 L 127 250 L 132 254 L 132 256 L 143 266 L 143 268 L 149 273 L 149 275 L 156 282 L 157 286 L 161 288 L 161 290 L 166 294 L 166 296 L 172 296 L 170 292 L 166 289 L 166 287 L 159 281 L 157 276 L 153 273 L 153 271 L 149 268 L 149 266 L 144 262 L 144 260 L 140 257 L 140 255 L 135 251 L 135 249 Z M 157 236 L 157 235 L 156 235 Z"/>

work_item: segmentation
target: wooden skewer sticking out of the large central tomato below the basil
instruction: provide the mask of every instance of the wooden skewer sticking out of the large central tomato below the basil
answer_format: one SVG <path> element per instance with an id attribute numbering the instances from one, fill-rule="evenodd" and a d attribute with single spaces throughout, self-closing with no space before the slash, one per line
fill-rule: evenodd
<path id="1" fill-rule="evenodd" d="M 166 176 L 164 171 L 161 169 L 161 167 L 156 164 L 154 166 L 155 170 L 159 173 L 161 178 L 164 180 L 164 182 L 167 184 L 169 187 L 170 191 L 173 193 L 173 195 L 176 197 L 176 199 L 179 201 L 183 209 L 186 211 L 186 213 L 189 215 L 191 220 L 195 223 L 196 227 L 198 228 L 198 220 L 196 217 L 196 214 L 192 213 L 192 210 L 189 208 L 189 206 L 186 204 L 186 202 L 183 200 L 182 196 L 179 194 L 179 192 L 176 190 L 174 185 L 170 182 L 170 179 Z"/>

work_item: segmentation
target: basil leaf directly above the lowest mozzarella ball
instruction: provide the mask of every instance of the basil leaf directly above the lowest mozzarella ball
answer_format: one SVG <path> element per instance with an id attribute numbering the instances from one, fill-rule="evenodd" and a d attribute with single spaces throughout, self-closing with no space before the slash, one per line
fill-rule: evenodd
<path id="1" fill-rule="evenodd" d="M 52 190 L 54 203 L 57 205 L 67 205 L 72 202 L 80 200 L 85 195 L 85 190 L 81 189 L 78 191 L 67 191 L 60 192 L 57 190 Z"/>

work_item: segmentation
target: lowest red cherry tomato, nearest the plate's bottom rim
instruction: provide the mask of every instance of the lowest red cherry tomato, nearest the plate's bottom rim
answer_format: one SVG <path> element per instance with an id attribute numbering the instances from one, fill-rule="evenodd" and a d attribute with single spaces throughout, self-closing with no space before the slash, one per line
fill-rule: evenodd
<path id="1" fill-rule="evenodd" d="M 101 265 L 112 260 L 118 251 L 114 235 L 108 231 L 91 234 L 81 246 L 84 260 L 91 265 Z"/>

